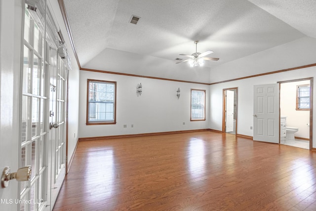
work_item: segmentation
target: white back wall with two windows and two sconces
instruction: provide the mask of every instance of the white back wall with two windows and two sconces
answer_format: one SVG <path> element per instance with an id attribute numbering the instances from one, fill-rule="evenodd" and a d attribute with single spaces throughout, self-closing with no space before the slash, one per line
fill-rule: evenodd
<path id="1" fill-rule="evenodd" d="M 87 79 L 117 82 L 116 125 L 86 126 Z M 137 96 L 139 83 L 143 85 L 143 92 Z M 179 87 L 181 96 L 178 99 Z M 206 90 L 206 121 L 190 122 L 191 88 Z M 79 137 L 208 128 L 208 93 L 209 85 L 80 71 Z"/>

